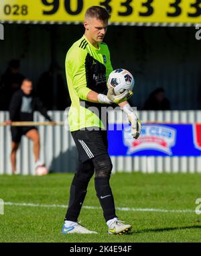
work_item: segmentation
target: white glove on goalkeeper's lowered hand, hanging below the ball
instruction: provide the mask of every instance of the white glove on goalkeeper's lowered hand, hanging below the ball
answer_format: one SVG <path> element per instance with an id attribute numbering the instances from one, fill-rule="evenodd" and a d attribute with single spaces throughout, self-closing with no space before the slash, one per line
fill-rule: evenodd
<path id="1" fill-rule="evenodd" d="M 133 138 L 139 138 L 139 135 L 141 133 L 141 122 L 139 118 L 137 118 L 135 112 L 133 112 L 129 103 L 124 105 L 121 109 L 123 110 L 123 112 L 125 112 L 125 114 L 127 114 L 129 118 L 129 123 L 131 124 L 131 134 Z"/>

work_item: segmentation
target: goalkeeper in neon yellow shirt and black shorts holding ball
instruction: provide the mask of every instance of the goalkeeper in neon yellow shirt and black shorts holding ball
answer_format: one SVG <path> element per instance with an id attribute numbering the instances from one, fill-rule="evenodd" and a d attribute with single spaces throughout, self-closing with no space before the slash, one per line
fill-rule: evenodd
<path id="1" fill-rule="evenodd" d="M 140 123 L 126 101 L 131 91 L 115 96 L 107 79 L 113 68 L 110 53 L 103 38 L 107 32 L 109 12 L 99 6 L 86 10 L 85 33 L 66 54 L 66 78 L 72 101 L 68 113 L 70 132 L 79 154 L 78 169 L 70 187 L 70 199 L 62 232 L 96 233 L 78 224 L 78 216 L 86 196 L 90 178 L 95 172 L 96 195 L 103 209 L 109 234 L 123 234 L 131 230 L 130 224 L 118 220 L 109 179 L 112 163 L 108 154 L 107 130 L 101 120 L 101 106 L 117 103 L 129 116 L 134 138 L 140 133 Z M 99 110 L 99 116 L 91 111 Z"/>

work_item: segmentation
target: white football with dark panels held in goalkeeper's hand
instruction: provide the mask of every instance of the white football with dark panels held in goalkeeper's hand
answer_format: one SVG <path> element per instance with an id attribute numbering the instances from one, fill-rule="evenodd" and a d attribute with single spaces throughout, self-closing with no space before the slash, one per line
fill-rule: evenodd
<path id="1" fill-rule="evenodd" d="M 132 91 L 135 80 L 133 75 L 126 69 L 115 69 L 110 73 L 107 83 L 109 86 L 114 87 L 115 95 L 119 95 L 125 90 Z"/>

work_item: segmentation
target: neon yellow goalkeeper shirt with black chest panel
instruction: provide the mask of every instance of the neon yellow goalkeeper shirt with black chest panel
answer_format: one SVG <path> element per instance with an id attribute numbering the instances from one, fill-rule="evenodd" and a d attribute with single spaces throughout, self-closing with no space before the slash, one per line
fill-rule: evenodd
<path id="1" fill-rule="evenodd" d="M 90 90 L 107 94 L 107 79 L 113 71 L 107 44 L 98 46 L 95 48 L 82 36 L 66 54 L 66 79 L 72 101 L 68 112 L 70 131 L 92 126 L 105 128 L 99 115 L 103 104 L 86 99 Z M 93 111 L 94 107 L 98 112 Z"/>

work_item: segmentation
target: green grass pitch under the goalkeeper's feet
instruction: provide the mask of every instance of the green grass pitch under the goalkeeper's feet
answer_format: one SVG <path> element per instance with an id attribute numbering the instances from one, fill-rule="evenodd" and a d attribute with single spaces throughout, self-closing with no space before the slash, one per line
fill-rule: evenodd
<path id="1" fill-rule="evenodd" d="M 129 234 L 119 236 L 107 234 L 94 179 L 88 186 L 79 220 L 98 234 L 61 233 L 72 176 L 1 175 L 0 198 L 5 206 L 4 214 L 0 215 L 0 242 L 201 242 L 201 214 L 195 212 L 196 199 L 201 198 L 200 174 L 113 174 L 111 187 L 117 215 L 133 226 Z"/>

